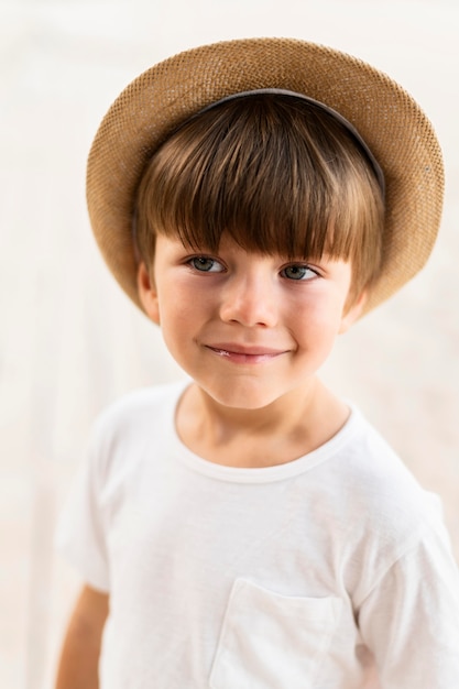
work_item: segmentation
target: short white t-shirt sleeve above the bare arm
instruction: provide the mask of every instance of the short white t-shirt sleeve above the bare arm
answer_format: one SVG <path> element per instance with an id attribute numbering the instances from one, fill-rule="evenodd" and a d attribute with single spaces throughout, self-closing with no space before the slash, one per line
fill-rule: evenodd
<path id="1" fill-rule="evenodd" d="M 61 515 L 56 550 L 92 588 L 108 592 L 110 572 L 107 534 L 101 510 L 103 461 L 100 429 L 96 424 L 86 457 Z"/>

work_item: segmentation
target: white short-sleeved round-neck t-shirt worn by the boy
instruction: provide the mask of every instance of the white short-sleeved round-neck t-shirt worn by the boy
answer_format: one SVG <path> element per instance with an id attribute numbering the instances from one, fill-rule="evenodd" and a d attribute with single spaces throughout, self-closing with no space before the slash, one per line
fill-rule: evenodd
<path id="1" fill-rule="evenodd" d="M 179 440 L 184 383 L 96 424 L 59 549 L 110 594 L 101 689 L 456 689 L 459 573 L 435 496 L 352 414 L 237 469 Z"/>

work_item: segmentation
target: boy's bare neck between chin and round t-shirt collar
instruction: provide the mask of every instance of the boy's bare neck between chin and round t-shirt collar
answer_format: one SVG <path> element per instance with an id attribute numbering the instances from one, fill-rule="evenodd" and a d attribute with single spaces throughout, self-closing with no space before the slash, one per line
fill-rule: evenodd
<path id="1" fill-rule="evenodd" d="M 177 411 L 177 430 L 190 450 L 228 466 L 292 461 L 329 440 L 349 411 L 317 379 L 266 407 L 230 408 L 192 385 Z"/>

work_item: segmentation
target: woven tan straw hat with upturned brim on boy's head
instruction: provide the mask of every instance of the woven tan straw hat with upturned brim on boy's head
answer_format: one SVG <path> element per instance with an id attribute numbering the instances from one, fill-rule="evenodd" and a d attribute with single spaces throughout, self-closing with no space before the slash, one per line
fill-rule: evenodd
<path id="1" fill-rule="evenodd" d="M 92 230 L 109 269 L 138 306 L 132 215 L 147 161 L 193 113 L 262 88 L 304 94 L 339 112 L 383 169 L 383 270 L 365 310 L 427 261 L 440 223 L 444 171 L 435 132 L 413 98 L 385 74 L 325 46 L 293 39 L 229 41 L 144 72 L 113 102 L 92 143 L 87 169 Z"/>

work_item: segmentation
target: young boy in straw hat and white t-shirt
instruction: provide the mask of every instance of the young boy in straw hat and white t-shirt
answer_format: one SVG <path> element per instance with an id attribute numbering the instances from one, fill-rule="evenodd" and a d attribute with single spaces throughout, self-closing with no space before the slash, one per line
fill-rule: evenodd
<path id="1" fill-rule="evenodd" d="M 113 103 L 92 228 L 189 380 L 96 424 L 61 526 L 85 586 L 58 689 L 458 686 L 436 499 L 317 378 L 422 267 L 441 193 L 416 103 L 329 48 L 204 46 Z"/>

